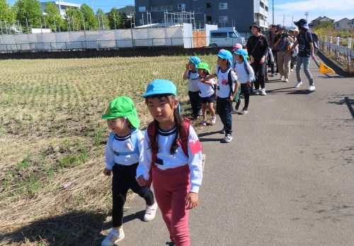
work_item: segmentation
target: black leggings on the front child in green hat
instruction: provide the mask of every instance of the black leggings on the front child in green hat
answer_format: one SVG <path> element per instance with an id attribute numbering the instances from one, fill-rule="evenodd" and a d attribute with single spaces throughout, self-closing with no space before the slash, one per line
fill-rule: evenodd
<path id="1" fill-rule="evenodd" d="M 115 164 L 112 168 L 112 194 L 113 194 L 113 209 L 112 220 L 113 227 L 118 227 L 123 224 L 123 208 L 127 199 L 128 189 L 132 189 L 136 194 L 141 196 L 147 203 L 152 206 L 154 204 L 154 194 L 147 186 L 139 186 L 135 176 L 137 175 L 138 163 L 130 166 Z"/>

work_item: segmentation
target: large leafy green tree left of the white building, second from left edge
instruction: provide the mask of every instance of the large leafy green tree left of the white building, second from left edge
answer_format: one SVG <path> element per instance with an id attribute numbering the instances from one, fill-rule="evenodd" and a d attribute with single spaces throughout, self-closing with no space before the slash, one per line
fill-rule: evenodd
<path id="1" fill-rule="evenodd" d="M 16 18 L 20 21 L 23 28 L 39 28 L 42 18 L 40 2 L 38 0 L 17 0 L 14 4 Z"/>

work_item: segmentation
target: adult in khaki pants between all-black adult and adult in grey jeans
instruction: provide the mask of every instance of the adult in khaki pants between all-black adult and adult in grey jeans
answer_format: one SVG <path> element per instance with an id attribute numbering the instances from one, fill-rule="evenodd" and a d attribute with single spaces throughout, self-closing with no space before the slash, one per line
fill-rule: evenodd
<path id="1" fill-rule="evenodd" d="M 278 35 L 274 40 L 274 47 L 277 50 L 277 66 L 280 73 L 280 79 L 283 82 L 289 82 L 290 78 L 290 62 L 291 62 L 291 46 L 294 39 L 284 32 L 285 27 L 277 25 L 276 32 Z"/>

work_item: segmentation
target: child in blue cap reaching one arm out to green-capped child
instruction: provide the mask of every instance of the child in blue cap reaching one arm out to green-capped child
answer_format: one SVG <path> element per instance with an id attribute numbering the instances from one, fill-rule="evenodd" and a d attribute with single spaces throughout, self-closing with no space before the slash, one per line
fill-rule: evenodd
<path id="1" fill-rule="evenodd" d="M 201 79 L 206 81 L 217 77 L 218 91 L 217 91 L 217 113 L 220 116 L 222 124 L 224 125 L 225 136 L 222 142 L 231 142 L 232 140 L 232 101 L 239 90 L 239 83 L 237 76 L 232 70 L 232 54 L 229 50 L 220 50 L 217 54 L 217 64 L 219 67 L 215 74 Z"/>

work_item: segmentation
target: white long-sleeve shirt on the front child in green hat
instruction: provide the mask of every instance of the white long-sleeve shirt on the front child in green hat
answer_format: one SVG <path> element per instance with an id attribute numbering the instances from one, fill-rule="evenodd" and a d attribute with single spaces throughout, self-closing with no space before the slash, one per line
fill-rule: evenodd
<path id="1" fill-rule="evenodd" d="M 111 135 L 114 133 L 110 133 Z M 137 146 L 139 152 L 142 152 L 143 142 L 144 142 L 144 134 L 142 131 L 138 131 L 137 133 Z M 110 143 L 107 142 L 105 145 L 105 167 L 109 170 L 112 169 L 115 163 L 122 164 L 125 166 L 130 166 L 131 164 L 135 164 L 139 162 L 139 153 L 133 153 L 131 155 L 115 155 L 114 152 L 127 153 L 134 151 L 135 146 L 132 145 L 132 140 L 130 139 L 131 135 L 126 135 L 124 137 L 119 137 L 115 135 L 112 142 L 112 148 L 110 148 Z M 108 138 L 109 141 L 109 138 Z"/>

